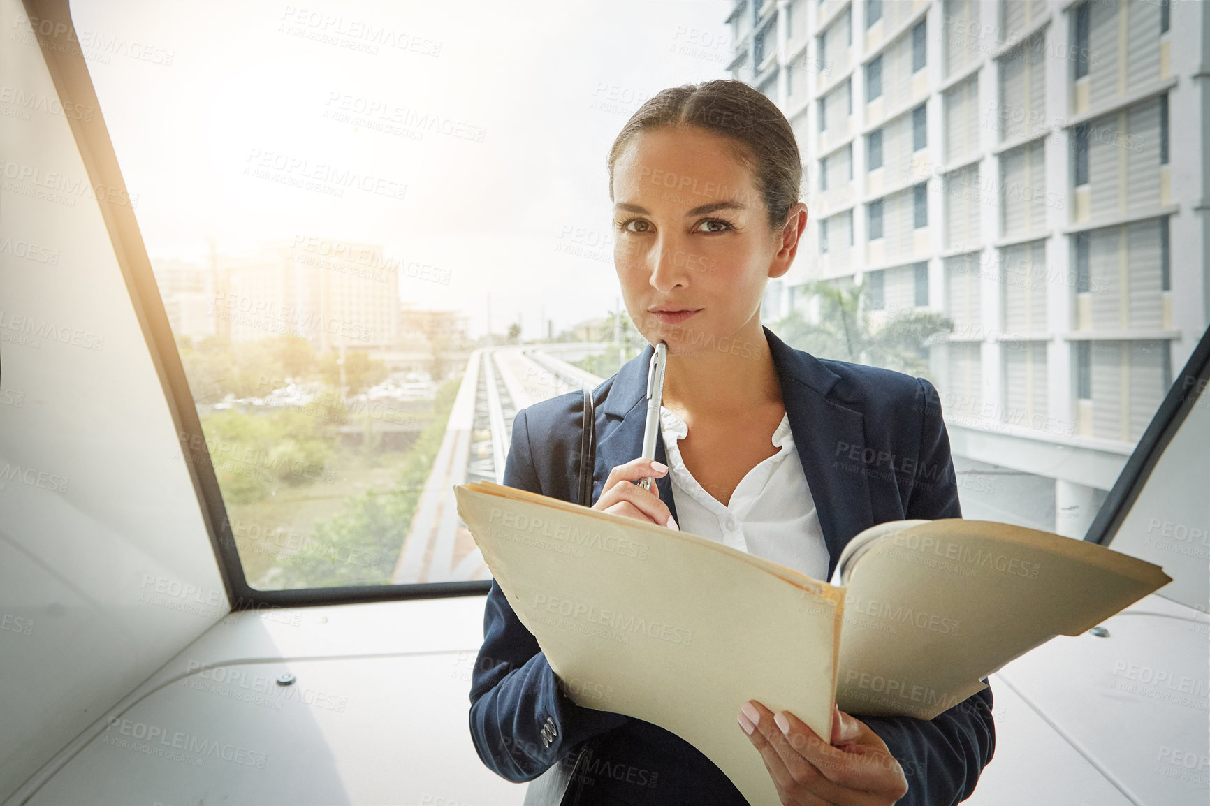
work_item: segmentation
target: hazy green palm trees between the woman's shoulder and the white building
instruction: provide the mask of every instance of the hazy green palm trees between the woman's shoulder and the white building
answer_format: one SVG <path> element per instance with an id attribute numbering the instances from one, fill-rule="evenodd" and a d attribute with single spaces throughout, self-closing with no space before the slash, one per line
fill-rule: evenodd
<path id="1" fill-rule="evenodd" d="M 881 326 L 875 324 L 865 283 L 814 281 L 803 290 L 819 297 L 819 322 L 807 322 L 795 310 L 777 323 L 777 334 L 790 346 L 820 358 L 928 378 L 928 347 L 953 329 L 947 317 L 934 311 L 900 311 Z"/>

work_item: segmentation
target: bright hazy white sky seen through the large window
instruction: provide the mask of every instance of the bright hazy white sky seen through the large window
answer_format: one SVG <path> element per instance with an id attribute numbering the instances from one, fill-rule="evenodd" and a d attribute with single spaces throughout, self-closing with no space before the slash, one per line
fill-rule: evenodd
<path id="1" fill-rule="evenodd" d="M 604 316 L 606 160 L 664 87 L 728 77 L 730 0 L 74 0 L 148 253 L 367 242 L 472 336 Z M 446 277 L 448 284 L 430 277 Z"/>

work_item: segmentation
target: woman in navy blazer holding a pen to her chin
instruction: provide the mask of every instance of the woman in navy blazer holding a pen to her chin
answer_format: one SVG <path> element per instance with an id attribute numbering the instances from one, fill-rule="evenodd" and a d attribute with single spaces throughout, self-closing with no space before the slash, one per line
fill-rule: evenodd
<path id="1" fill-rule="evenodd" d="M 799 150 L 777 106 L 739 81 L 664 90 L 617 136 L 609 175 L 618 282 L 649 345 L 593 391 L 593 508 L 822 580 L 868 526 L 961 517 L 928 381 L 816 358 L 761 326 L 765 286 L 789 271 L 807 224 Z M 661 340 L 669 347 L 662 428 L 647 461 L 636 459 L 643 401 Z M 576 392 L 519 411 L 505 484 L 575 500 L 580 410 Z M 652 491 L 633 483 L 647 476 Z M 484 764 L 522 782 L 578 758 L 565 804 L 745 802 L 691 744 L 577 706 L 569 684 L 492 582 L 471 686 Z M 736 730 L 761 754 L 783 804 L 944 806 L 969 796 L 991 759 L 991 707 L 985 689 L 927 721 L 834 713 L 822 739 L 794 714 L 749 701 Z"/>

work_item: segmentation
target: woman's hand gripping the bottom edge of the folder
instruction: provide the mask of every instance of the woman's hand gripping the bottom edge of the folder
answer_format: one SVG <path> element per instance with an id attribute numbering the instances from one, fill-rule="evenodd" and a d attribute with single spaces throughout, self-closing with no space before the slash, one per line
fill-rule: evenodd
<path id="1" fill-rule="evenodd" d="M 908 778 L 887 743 L 832 704 L 831 742 L 789 712 L 774 715 L 755 700 L 739 725 L 765 759 L 785 806 L 888 806 L 908 794 Z M 747 725 L 744 724 L 747 720 Z"/>

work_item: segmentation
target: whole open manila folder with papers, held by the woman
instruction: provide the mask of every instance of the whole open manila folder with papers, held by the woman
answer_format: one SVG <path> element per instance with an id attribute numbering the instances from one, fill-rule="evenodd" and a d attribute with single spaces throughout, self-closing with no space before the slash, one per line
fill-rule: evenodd
<path id="1" fill-rule="evenodd" d="M 454 488 L 501 591 L 576 704 L 672 731 L 750 804 L 779 804 L 736 715 L 748 700 L 822 737 L 831 708 L 932 719 L 1055 635 L 1171 578 L 1104 546 L 986 520 L 897 520 L 829 585 L 728 546 L 525 490 Z"/>

